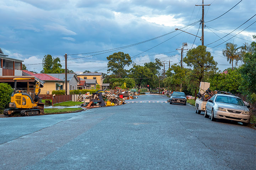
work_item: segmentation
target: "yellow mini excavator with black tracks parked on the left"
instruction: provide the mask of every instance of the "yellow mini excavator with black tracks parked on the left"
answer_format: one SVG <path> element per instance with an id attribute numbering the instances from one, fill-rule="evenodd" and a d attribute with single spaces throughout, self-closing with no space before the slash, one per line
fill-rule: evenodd
<path id="1" fill-rule="evenodd" d="M 40 81 L 36 82 L 34 99 L 29 94 L 17 91 L 17 80 L 31 80 L 30 78 L 14 78 L 14 92 L 11 95 L 9 108 L 4 110 L 5 116 L 20 113 L 21 116 L 44 114 L 44 104 L 39 103 Z"/>

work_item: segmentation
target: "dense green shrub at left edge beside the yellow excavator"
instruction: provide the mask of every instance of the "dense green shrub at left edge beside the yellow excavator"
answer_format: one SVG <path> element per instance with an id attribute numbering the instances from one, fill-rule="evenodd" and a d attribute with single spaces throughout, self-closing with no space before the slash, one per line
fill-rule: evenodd
<path id="1" fill-rule="evenodd" d="M 7 83 L 0 83 L 0 113 L 3 113 L 4 109 L 8 107 L 11 101 L 11 94 L 13 90 Z"/>

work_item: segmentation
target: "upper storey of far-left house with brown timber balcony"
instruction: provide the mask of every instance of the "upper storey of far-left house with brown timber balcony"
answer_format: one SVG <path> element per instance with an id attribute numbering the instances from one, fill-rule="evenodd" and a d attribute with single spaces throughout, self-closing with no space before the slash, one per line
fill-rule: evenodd
<path id="1" fill-rule="evenodd" d="M 22 62 L 8 58 L 0 49 L 0 76 L 22 76 Z"/>

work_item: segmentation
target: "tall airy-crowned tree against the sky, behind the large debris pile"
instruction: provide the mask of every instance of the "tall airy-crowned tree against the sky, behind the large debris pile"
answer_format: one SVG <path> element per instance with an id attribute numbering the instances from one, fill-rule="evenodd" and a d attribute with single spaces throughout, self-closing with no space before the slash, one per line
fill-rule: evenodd
<path id="1" fill-rule="evenodd" d="M 123 52 L 113 53 L 107 57 L 108 60 L 108 72 L 112 72 L 118 77 L 125 77 L 127 75 L 127 70 L 124 69 L 125 66 L 129 66 L 132 60 L 129 54 L 124 54 Z"/>

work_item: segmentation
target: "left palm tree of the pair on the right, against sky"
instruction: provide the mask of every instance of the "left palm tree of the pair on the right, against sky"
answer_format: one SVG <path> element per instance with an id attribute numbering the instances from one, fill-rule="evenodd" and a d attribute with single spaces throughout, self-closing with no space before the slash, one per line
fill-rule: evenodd
<path id="1" fill-rule="evenodd" d="M 232 63 L 233 70 L 233 61 L 239 59 L 239 51 L 240 47 L 237 47 L 236 44 L 232 44 L 231 42 L 226 43 L 225 50 L 222 50 L 222 54 L 227 58 L 229 64 Z"/>

